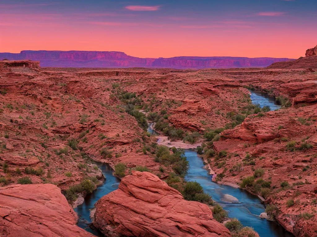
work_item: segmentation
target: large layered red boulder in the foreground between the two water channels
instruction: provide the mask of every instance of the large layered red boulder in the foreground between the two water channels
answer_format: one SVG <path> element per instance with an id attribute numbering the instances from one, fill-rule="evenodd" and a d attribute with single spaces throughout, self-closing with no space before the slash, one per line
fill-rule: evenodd
<path id="1" fill-rule="evenodd" d="M 93 224 L 107 236 L 231 236 L 207 205 L 184 200 L 148 172 L 132 171 L 95 207 Z"/>

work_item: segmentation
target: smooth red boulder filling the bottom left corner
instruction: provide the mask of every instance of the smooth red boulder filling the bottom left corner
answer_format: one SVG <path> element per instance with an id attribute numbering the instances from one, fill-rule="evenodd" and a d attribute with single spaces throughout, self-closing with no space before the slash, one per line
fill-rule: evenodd
<path id="1" fill-rule="evenodd" d="M 76 225 L 77 214 L 52 184 L 0 187 L 0 236 L 93 237 Z"/>

